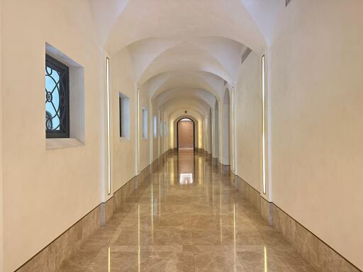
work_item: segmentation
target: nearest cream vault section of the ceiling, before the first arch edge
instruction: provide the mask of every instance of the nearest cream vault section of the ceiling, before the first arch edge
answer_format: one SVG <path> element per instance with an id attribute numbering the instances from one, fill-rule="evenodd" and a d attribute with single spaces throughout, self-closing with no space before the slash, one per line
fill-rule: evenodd
<path id="1" fill-rule="evenodd" d="M 96 21 L 102 23 L 102 35 L 108 35 L 105 46 L 111 55 L 135 41 L 150 37 L 210 35 L 236 40 L 257 53 L 266 47 L 255 18 L 241 0 L 223 1 L 223 4 L 219 0 L 102 1 L 104 6 L 114 8 L 123 4 L 124 8 L 118 8 L 116 20 L 115 12 L 111 13 L 109 20 L 108 14 L 99 14 L 99 10 L 103 10 L 102 4 L 95 5 L 95 2 L 91 1 L 91 8 Z"/>

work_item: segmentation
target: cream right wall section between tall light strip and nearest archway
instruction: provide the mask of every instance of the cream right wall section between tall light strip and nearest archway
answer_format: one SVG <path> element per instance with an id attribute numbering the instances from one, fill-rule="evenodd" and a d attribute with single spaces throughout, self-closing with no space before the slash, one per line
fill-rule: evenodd
<path id="1" fill-rule="evenodd" d="M 260 58 L 251 52 L 235 89 L 238 176 L 260 191 L 262 183 L 262 95 Z"/>

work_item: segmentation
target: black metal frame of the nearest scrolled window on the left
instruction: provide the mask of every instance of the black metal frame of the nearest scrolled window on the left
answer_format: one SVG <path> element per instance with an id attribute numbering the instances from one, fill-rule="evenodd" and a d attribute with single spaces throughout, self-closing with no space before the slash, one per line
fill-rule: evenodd
<path id="1" fill-rule="evenodd" d="M 47 126 L 45 125 L 45 138 L 69 138 L 69 126 L 70 126 L 70 121 L 69 121 L 69 108 L 70 108 L 70 104 L 69 104 L 69 67 L 60 62 L 59 60 L 56 60 L 54 57 L 45 54 L 45 69 L 47 69 L 47 67 L 50 67 L 51 69 L 55 70 L 55 71 L 59 71 L 61 70 L 62 72 L 65 73 L 65 78 L 62 79 L 61 81 L 61 88 L 64 88 L 64 93 L 65 93 L 65 106 L 62 106 L 62 108 L 64 108 L 62 111 L 66 111 L 65 112 L 65 118 L 64 118 L 64 122 L 62 123 L 61 128 L 64 127 L 63 130 L 57 131 L 57 130 L 47 130 Z M 45 75 L 46 77 L 46 75 Z M 45 87 L 45 103 L 47 103 L 47 89 Z M 61 109 L 60 109 L 61 111 Z M 45 111 L 46 114 L 46 111 Z M 60 120 L 61 123 L 61 120 Z"/>

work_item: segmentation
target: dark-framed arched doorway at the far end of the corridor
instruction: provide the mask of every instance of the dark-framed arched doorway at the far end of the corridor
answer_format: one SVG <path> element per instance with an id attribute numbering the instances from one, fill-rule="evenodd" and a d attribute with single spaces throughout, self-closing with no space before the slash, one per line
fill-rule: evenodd
<path id="1" fill-rule="evenodd" d="M 177 148 L 195 149 L 195 123 L 190 118 L 181 118 L 177 122 Z"/>

